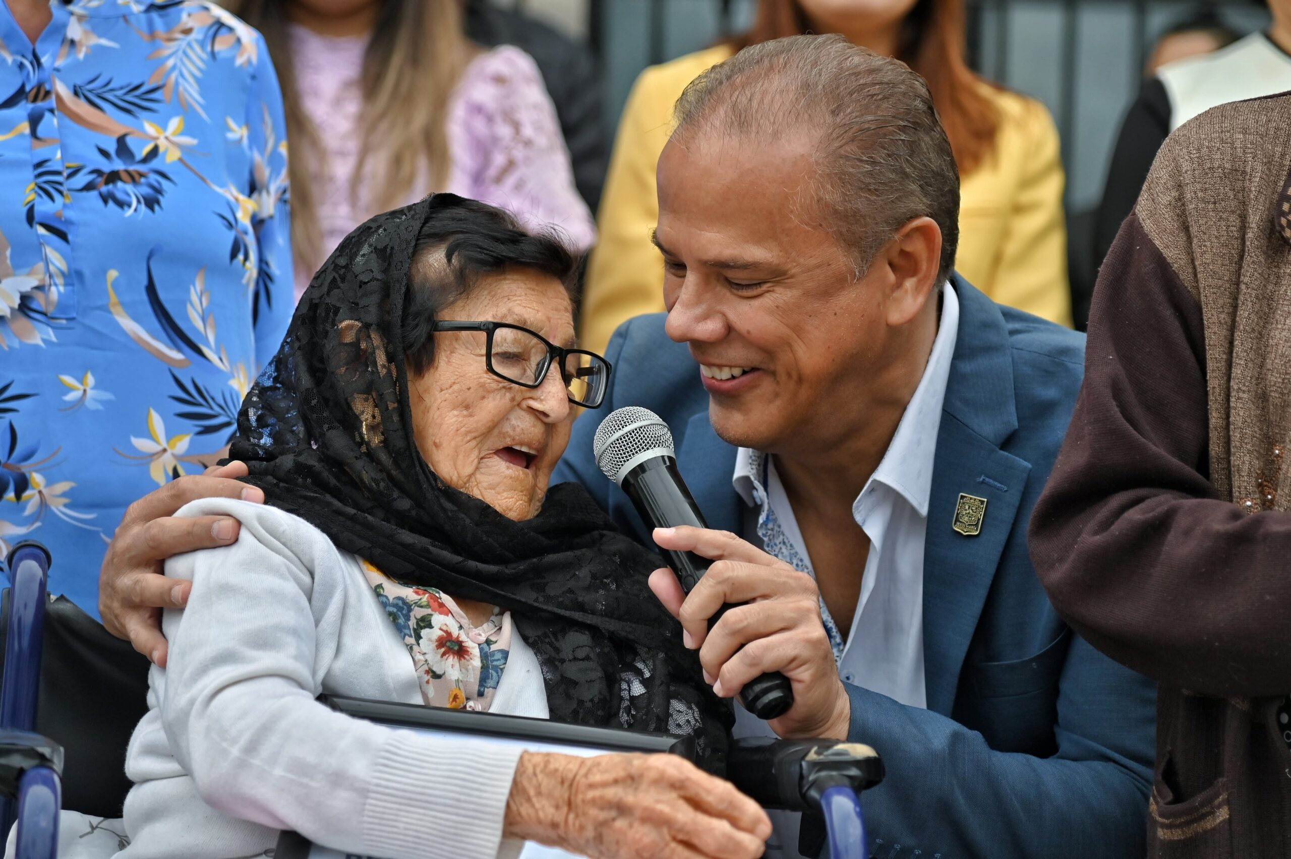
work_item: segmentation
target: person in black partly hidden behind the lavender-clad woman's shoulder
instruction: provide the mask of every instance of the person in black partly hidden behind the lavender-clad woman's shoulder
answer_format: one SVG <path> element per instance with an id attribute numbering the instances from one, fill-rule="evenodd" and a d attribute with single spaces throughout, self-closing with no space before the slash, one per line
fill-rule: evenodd
<path id="1" fill-rule="evenodd" d="M 574 184 L 587 208 L 595 212 L 605 183 L 609 144 L 600 66 L 586 43 L 489 0 L 466 0 L 466 37 L 480 45 L 515 45 L 533 57 L 560 117 Z"/>

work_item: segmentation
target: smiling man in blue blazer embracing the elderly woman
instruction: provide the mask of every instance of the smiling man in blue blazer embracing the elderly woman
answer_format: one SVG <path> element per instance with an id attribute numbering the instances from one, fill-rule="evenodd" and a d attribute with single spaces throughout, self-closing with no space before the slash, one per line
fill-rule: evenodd
<path id="1" fill-rule="evenodd" d="M 682 97 L 658 165 L 666 315 L 625 324 L 602 413 L 553 477 L 640 540 L 715 564 L 686 597 L 652 577 L 709 680 L 781 671 L 794 707 L 737 731 L 873 744 L 882 859 L 1118 859 L 1145 850 L 1155 690 L 1074 635 L 1026 549 L 1081 384 L 1083 337 L 953 273 L 959 175 L 923 80 L 838 36 L 745 49 Z M 662 415 L 717 530 L 646 529 L 596 468 L 598 418 Z M 236 472 L 234 472 L 236 473 Z M 103 615 L 145 653 L 156 558 L 234 539 L 128 517 Z M 176 504 L 177 506 L 177 504 Z M 158 518 L 161 516 L 161 518 Z M 707 629 L 723 602 L 747 602 Z M 797 855 L 777 822 L 769 855 Z"/>

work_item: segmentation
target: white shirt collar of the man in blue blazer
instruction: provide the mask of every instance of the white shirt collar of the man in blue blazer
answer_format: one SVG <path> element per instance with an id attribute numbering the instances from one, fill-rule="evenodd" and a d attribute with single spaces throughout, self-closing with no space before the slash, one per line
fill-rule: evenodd
<path id="1" fill-rule="evenodd" d="M 959 297 L 955 295 L 954 286 L 946 282 L 942 288 L 937 337 L 932 341 L 932 352 L 928 355 L 923 377 L 901 415 L 887 453 L 865 484 L 865 489 L 875 482 L 892 488 L 919 512 L 919 516 L 928 515 L 941 406 L 946 397 L 946 382 L 950 379 L 950 362 L 958 334 Z M 764 460 L 762 453 L 749 448 L 740 448 L 736 453 L 731 484 L 750 507 L 762 504 L 767 497 Z M 862 490 L 856 504 L 861 504 L 865 497 L 866 491 Z"/>

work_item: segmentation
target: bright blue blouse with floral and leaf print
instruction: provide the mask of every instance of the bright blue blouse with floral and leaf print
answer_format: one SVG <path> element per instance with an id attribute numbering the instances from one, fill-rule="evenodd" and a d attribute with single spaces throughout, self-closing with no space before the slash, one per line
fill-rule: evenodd
<path id="1" fill-rule="evenodd" d="M 292 312 L 281 95 L 213 3 L 0 3 L 0 549 L 97 614 L 127 504 L 200 472 Z"/>

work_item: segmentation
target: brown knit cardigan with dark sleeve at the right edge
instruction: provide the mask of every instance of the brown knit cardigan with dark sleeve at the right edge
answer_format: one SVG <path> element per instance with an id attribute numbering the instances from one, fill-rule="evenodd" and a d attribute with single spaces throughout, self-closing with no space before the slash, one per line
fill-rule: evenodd
<path id="1" fill-rule="evenodd" d="M 1161 859 L 1291 856 L 1287 445 L 1291 94 L 1212 110 L 1161 150 L 1032 516 L 1057 610 L 1161 684 Z"/>

